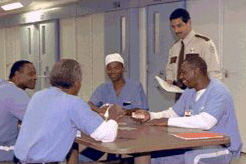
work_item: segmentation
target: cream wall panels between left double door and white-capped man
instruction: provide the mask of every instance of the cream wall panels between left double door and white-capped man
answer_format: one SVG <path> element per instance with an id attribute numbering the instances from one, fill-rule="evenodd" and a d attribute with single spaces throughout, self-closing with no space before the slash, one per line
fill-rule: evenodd
<path id="1" fill-rule="evenodd" d="M 79 95 L 86 101 L 105 80 L 104 14 L 60 21 L 61 58 L 76 59 L 82 65 Z"/>

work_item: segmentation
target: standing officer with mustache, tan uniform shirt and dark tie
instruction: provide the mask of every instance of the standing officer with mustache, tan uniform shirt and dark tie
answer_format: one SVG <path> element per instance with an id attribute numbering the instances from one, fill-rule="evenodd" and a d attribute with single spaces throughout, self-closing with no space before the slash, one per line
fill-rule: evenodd
<path id="1" fill-rule="evenodd" d="M 209 77 L 222 79 L 220 58 L 213 41 L 195 33 L 191 27 L 188 11 L 179 8 L 170 15 L 170 24 L 178 40 L 169 50 L 166 67 L 166 81 L 169 84 L 183 86 L 180 80 L 181 64 L 186 57 L 200 56 L 208 66 Z"/>

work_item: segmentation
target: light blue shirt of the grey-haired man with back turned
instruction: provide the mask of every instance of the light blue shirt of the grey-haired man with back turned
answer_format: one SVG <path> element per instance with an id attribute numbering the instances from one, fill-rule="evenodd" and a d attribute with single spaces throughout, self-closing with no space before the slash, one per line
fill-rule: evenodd
<path id="1" fill-rule="evenodd" d="M 103 119 L 79 97 L 51 87 L 28 104 L 15 155 L 24 162 L 64 161 L 79 129 L 90 135 Z"/>

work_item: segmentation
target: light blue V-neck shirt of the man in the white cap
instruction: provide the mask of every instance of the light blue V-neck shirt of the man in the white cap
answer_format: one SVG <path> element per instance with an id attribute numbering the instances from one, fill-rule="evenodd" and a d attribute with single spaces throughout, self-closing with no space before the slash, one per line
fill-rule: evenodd
<path id="1" fill-rule="evenodd" d="M 120 105 L 124 109 L 139 108 L 148 110 L 148 101 L 142 84 L 129 79 L 125 81 L 126 83 L 118 96 L 112 82 L 101 84 L 92 94 L 90 102 L 97 107 L 110 103 Z"/>

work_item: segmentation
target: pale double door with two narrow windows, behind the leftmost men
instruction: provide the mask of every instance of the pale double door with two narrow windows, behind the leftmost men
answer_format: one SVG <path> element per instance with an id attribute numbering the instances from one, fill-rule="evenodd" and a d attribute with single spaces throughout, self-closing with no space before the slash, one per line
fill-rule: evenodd
<path id="1" fill-rule="evenodd" d="M 58 21 L 21 27 L 21 58 L 34 63 L 37 71 L 35 90 L 50 86 L 49 73 L 59 59 Z"/>

